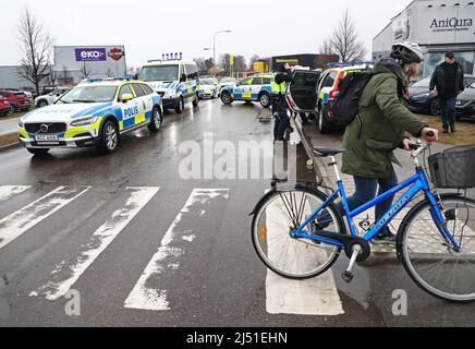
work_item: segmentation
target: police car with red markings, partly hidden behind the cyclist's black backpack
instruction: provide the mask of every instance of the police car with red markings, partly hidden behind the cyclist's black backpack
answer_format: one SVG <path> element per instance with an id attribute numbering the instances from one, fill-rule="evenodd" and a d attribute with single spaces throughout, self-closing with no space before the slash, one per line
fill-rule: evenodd
<path id="1" fill-rule="evenodd" d="M 340 92 L 340 82 L 348 73 L 361 72 L 373 68 L 373 62 L 355 62 L 355 63 L 329 63 L 330 68 L 324 71 L 318 83 L 317 98 L 317 115 L 318 129 L 320 133 L 328 134 L 334 129 L 334 123 L 331 118 L 330 108 L 333 104 L 336 95 Z"/>

